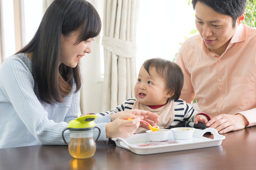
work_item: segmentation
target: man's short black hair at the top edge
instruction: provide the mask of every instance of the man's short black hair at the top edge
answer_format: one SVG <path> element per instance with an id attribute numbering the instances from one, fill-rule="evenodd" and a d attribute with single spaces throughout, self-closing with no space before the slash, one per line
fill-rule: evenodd
<path id="1" fill-rule="evenodd" d="M 197 2 L 207 5 L 220 14 L 231 16 L 235 27 L 236 20 L 245 11 L 247 0 L 192 0 L 194 10 Z"/>

